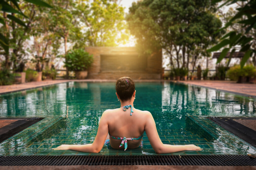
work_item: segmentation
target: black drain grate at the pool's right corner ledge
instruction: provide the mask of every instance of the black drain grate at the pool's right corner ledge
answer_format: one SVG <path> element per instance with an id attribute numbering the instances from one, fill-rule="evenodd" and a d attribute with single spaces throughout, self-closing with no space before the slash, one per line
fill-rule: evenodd
<path id="1" fill-rule="evenodd" d="M 215 122 L 222 128 L 226 129 L 230 133 L 233 133 L 238 138 L 246 141 L 256 148 L 256 131 L 252 130 L 241 123 L 238 123 L 232 119 L 250 119 L 256 120 L 256 118 L 243 118 L 243 117 L 208 117 L 211 121 Z"/>

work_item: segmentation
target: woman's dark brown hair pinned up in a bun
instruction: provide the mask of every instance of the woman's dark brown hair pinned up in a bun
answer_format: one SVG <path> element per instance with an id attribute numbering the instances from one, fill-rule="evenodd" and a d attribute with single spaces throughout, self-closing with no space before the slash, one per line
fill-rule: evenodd
<path id="1" fill-rule="evenodd" d="M 130 100 L 135 91 L 135 84 L 130 77 L 121 77 L 115 84 L 116 93 L 123 101 Z"/>

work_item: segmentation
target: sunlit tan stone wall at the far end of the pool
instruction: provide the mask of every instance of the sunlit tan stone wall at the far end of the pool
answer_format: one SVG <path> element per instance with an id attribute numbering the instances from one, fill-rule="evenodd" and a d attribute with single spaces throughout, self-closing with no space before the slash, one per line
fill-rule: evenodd
<path id="1" fill-rule="evenodd" d="M 93 54 L 88 70 L 91 79 L 118 79 L 129 76 L 137 79 L 160 79 L 162 50 L 149 56 L 139 56 L 135 47 L 86 47 Z"/>

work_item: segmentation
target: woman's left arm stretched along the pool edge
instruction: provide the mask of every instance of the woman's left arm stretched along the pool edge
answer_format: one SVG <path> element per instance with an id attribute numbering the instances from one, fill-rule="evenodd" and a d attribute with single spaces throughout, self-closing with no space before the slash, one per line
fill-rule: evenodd
<path id="1" fill-rule="evenodd" d="M 103 112 L 97 135 L 93 143 L 85 145 L 60 145 L 57 148 L 52 148 L 53 150 L 75 150 L 80 152 L 98 153 L 102 149 L 105 139 L 108 135 L 108 117 L 106 116 L 106 111 Z"/>

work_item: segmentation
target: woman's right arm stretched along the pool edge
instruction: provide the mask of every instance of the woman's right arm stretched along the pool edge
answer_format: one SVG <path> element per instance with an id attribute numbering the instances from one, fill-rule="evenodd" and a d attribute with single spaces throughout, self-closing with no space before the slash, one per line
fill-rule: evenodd
<path id="1" fill-rule="evenodd" d="M 196 145 L 169 145 L 163 144 L 156 130 L 156 124 L 153 116 L 150 112 L 146 115 L 146 124 L 145 131 L 150 141 L 150 144 L 154 151 L 158 154 L 161 153 L 171 153 L 171 152 L 179 152 L 184 150 L 190 151 L 201 151 L 202 149 Z"/>

